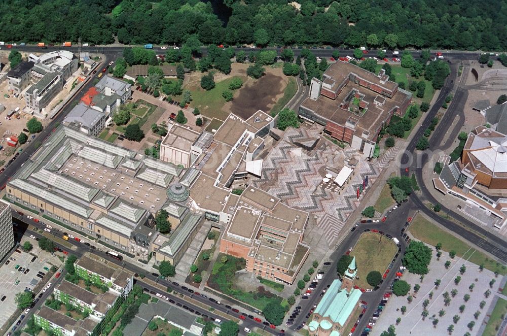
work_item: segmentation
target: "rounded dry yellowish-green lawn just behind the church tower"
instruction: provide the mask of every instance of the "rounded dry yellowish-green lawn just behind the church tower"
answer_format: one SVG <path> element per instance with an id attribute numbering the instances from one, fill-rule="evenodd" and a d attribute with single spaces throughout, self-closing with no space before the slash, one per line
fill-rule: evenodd
<path id="1" fill-rule="evenodd" d="M 384 274 L 397 249 L 393 241 L 379 233 L 365 232 L 361 234 L 357 244 L 350 252 L 358 265 L 357 276 L 359 279 L 355 281 L 355 284 L 360 288 L 372 288 L 366 282 L 366 276 L 371 271 L 379 271 Z"/>

